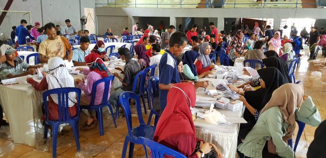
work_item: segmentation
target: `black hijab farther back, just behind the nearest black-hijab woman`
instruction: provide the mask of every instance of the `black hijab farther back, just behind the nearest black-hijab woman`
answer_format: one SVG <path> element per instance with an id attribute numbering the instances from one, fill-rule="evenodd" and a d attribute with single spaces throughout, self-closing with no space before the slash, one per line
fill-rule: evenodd
<path id="1" fill-rule="evenodd" d="M 277 68 L 283 74 L 285 81 L 287 81 L 286 83 L 291 83 L 291 79 L 288 74 L 288 65 L 283 59 L 271 56 L 266 59 L 263 59 L 263 63 L 267 68 Z"/>

